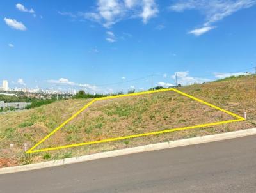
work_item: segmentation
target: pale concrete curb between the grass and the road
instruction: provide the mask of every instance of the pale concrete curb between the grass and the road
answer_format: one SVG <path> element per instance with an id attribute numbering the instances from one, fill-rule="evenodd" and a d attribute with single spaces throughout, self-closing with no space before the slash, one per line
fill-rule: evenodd
<path id="1" fill-rule="evenodd" d="M 37 164 L 29 164 L 25 166 L 4 167 L 0 169 L 0 174 L 15 173 L 20 171 L 29 171 L 33 169 L 42 169 L 45 167 L 62 166 L 65 164 L 74 164 L 78 162 L 86 162 L 90 160 L 97 160 L 101 158 L 116 157 L 120 155 L 128 155 L 131 153 L 141 153 L 145 151 L 162 150 L 166 148 L 175 148 L 179 146 L 188 146 L 191 144 L 209 143 L 212 141 L 221 141 L 225 139 L 233 139 L 237 137 L 245 137 L 255 135 L 256 128 L 239 130 L 236 132 L 228 132 L 223 134 L 207 135 L 203 137 L 193 137 L 189 139 L 180 139 L 177 141 L 169 141 L 164 143 L 149 144 L 145 146 L 138 146 L 134 148 L 126 148 L 122 150 L 108 151 L 103 153 L 95 153 L 92 155 L 84 155 L 81 157 L 66 158 L 63 160 L 55 160 L 49 162 L 41 162 Z"/>

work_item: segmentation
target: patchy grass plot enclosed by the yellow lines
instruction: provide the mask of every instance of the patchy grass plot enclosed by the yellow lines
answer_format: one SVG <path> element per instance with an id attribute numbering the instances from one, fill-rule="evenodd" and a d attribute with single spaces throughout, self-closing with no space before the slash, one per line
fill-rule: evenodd
<path id="1" fill-rule="evenodd" d="M 234 119 L 175 91 L 125 96 L 94 102 L 42 143 L 41 148 Z"/>

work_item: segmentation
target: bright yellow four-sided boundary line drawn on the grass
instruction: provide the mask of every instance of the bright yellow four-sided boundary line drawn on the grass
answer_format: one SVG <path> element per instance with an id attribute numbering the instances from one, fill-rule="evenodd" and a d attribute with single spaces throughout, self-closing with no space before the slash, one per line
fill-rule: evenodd
<path id="1" fill-rule="evenodd" d="M 214 122 L 214 123 L 206 123 L 206 124 L 201 124 L 201 125 L 194 125 L 194 126 L 190 126 L 190 127 L 171 128 L 171 129 L 167 129 L 167 130 L 161 130 L 161 131 L 157 131 L 157 132 L 149 132 L 149 133 L 145 133 L 145 134 L 127 135 L 124 137 L 115 137 L 115 138 L 109 138 L 109 139 L 102 139 L 99 141 L 89 141 L 89 142 L 85 142 L 85 143 L 69 144 L 69 145 L 65 145 L 65 146 L 58 146 L 58 147 L 53 147 L 53 148 L 44 148 L 44 149 L 40 149 L 40 150 L 34 150 L 38 145 L 40 145 L 46 139 L 51 137 L 52 134 L 54 134 L 55 132 L 60 130 L 60 128 L 64 127 L 68 122 L 70 122 L 71 120 L 76 118 L 76 116 L 78 116 L 81 112 L 83 112 L 90 105 L 92 105 L 93 102 L 96 102 L 99 100 L 108 100 L 108 99 L 112 99 L 112 98 L 121 98 L 121 97 L 125 97 L 125 96 L 137 96 L 137 95 L 145 95 L 145 94 L 150 94 L 150 93 L 160 93 L 160 92 L 164 92 L 164 91 L 175 91 L 176 93 L 179 93 L 180 95 L 187 96 L 188 98 L 196 100 L 202 104 L 208 105 L 209 107 L 212 107 L 214 109 L 218 109 L 219 111 L 230 114 L 231 116 L 234 116 L 237 119 L 236 120 L 227 120 L 227 121 L 218 121 L 218 122 Z M 59 127 L 52 130 L 52 132 L 50 134 L 48 134 L 42 140 L 40 140 L 38 143 L 36 143 L 35 146 L 30 148 L 28 151 L 26 151 L 26 153 L 36 153 L 36 152 L 42 152 L 42 151 L 60 150 L 63 148 L 71 148 L 71 147 L 76 147 L 76 146 L 84 146 L 84 145 L 88 145 L 88 144 L 104 143 L 104 142 L 109 142 L 109 141 L 118 141 L 118 140 L 122 140 L 122 139 L 131 139 L 131 138 L 143 137 L 143 136 L 147 136 L 147 135 L 164 134 L 164 133 L 175 132 L 175 131 L 179 131 L 179 130 L 188 130 L 188 129 L 198 128 L 198 127 L 209 127 L 212 125 L 221 125 L 221 124 L 225 124 L 225 123 L 232 123 L 232 122 L 244 121 L 244 120 L 245 119 L 243 117 L 241 117 L 237 114 L 234 114 L 225 109 L 221 109 L 220 107 L 209 104 L 208 102 L 205 102 L 204 100 L 200 100 L 199 98 L 188 95 L 188 94 L 183 93 L 182 91 L 179 91 L 174 88 L 167 88 L 167 89 L 161 89 L 161 90 L 156 90 L 156 91 L 145 91 L 145 92 L 141 92 L 141 93 L 131 93 L 131 94 L 125 94 L 125 95 L 118 95 L 118 96 L 107 96 L 107 97 L 101 97 L 101 98 L 94 98 L 93 100 L 91 100 L 88 104 L 84 105 L 84 107 L 82 109 L 80 109 L 75 114 L 73 114 L 70 118 L 68 118 L 66 121 L 64 121 Z"/>

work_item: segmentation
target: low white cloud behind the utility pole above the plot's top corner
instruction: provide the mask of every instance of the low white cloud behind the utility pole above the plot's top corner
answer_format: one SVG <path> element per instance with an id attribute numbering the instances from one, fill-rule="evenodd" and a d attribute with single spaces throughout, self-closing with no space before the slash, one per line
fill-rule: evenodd
<path id="1" fill-rule="evenodd" d="M 191 77 L 189 76 L 189 71 L 179 71 L 175 72 L 177 74 L 177 84 L 181 85 L 188 85 L 188 84 L 194 84 L 194 83 L 203 83 L 203 82 L 209 82 L 211 79 L 205 79 L 205 78 L 198 78 L 198 77 Z M 172 75 L 172 79 L 175 80 L 175 74 Z"/>

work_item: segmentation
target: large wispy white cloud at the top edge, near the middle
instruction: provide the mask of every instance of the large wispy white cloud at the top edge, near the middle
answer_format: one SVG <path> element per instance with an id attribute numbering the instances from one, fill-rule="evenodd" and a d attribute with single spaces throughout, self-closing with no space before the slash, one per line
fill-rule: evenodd
<path id="1" fill-rule="evenodd" d="M 109 28 L 121 20 L 136 17 L 140 17 L 147 24 L 157 13 L 155 0 L 97 0 L 96 8 L 92 12 L 78 12 L 76 15 Z"/>

